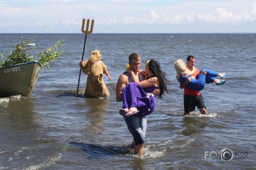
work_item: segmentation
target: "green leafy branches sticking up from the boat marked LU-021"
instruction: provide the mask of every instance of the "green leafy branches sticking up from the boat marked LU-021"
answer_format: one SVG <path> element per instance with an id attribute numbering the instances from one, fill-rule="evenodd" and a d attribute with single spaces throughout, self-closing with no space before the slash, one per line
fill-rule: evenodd
<path id="1" fill-rule="evenodd" d="M 4 57 L 4 51 L 2 51 L 1 56 L 3 58 L 3 61 L 0 60 L 0 67 L 27 63 L 30 61 L 39 61 L 44 67 L 45 73 L 47 73 L 47 70 L 50 70 L 52 72 L 49 67 L 49 62 L 54 63 L 54 60 L 57 60 L 57 58 L 61 57 L 61 54 L 66 54 L 65 52 L 63 52 L 63 50 L 58 51 L 58 48 L 64 45 L 61 44 L 63 40 L 58 40 L 53 47 L 47 48 L 44 51 L 40 52 L 39 56 L 34 59 L 31 50 L 36 49 L 36 46 L 38 45 L 32 43 L 33 39 L 34 38 L 28 38 L 21 44 L 18 44 L 13 51 L 10 51 L 7 58 Z"/>

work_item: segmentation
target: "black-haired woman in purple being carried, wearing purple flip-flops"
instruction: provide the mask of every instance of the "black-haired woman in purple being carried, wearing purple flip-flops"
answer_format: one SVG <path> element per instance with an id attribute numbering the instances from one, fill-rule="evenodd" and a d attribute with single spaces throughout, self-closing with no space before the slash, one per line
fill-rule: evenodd
<path id="1" fill-rule="evenodd" d="M 144 117 L 153 112 L 156 105 L 156 95 L 153 90 L 160 89 L 159 98 L 161 99 L 164 91 L 168 94 L 168 79 L 165 72 L 161 71 L 160 63 L 154 59 L 146 63 L 144 81 L 139 82 L 138 76 L 135 76 L 131 69 L 127 72 L 131 74 L 132 82 L 124 87 L 122 91 L 122 101 L 124 108 L 119 111 L 120 115 L 129 117 L 135 113 L 139 117 Z"/>

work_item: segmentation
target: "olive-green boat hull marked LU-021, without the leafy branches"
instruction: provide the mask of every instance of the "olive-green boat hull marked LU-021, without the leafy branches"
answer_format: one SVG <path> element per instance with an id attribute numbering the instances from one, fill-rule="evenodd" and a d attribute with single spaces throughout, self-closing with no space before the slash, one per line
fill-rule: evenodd
<path id="1" fill-rule="evenodd" d="M 42 68 L 39 61 L 0 68 L 0 97 L 30 96 Z"/>

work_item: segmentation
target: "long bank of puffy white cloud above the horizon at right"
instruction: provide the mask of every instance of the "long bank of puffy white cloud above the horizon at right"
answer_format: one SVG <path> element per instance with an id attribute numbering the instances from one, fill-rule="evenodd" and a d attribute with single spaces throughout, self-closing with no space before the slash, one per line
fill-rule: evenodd
<path id="1" fill-rule="evenodd" d="M 166 14 L 162 14 L 159 16 L 153 10 L 149 11 L 149 18 L 138 20 L 134 17 L 123 17 L 122 19 L 107 19 L 102 22 L 103 25 L 117 25 L 117 24 L 125 24 L 125 25 L 140 25 L 140 24 L 199 24 L 199 25 L 206 25 L 206 24 L 245 24 L 248 22 L 253 22 L 256 20 L 256 4 L 253 5 L 252 11 L 242 11 L 241 13 L 234 14 L 231 11 L 227 11 L 223 8 L 216 8 L 214 11 L 210 13 L 186 13 L 183 15 L 177 14 L 174 16 L 168 16 Z"/>

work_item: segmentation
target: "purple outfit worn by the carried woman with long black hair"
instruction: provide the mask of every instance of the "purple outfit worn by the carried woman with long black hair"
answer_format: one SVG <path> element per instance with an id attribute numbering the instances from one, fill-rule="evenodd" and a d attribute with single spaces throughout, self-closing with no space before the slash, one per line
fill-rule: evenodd
<path id="1" fill-rule="evenodd" d="M 122 91 L 122 101 L 124 108 L 136 107 L 140 112 L 139 117 L 151 114 L 156 105 L 156 94 L 154 89 L 159 87 L 142 88 L 138 83 L 129 83 Z"/>

